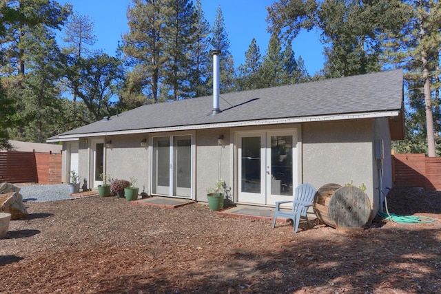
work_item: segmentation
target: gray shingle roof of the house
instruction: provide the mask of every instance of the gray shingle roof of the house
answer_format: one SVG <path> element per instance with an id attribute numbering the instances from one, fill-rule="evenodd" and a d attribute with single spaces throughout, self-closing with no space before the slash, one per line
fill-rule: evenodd
<path id="1" fill-rule="evenodd" d="M 401 109 L 402 70 L 311 83 L 220 94 L 220 114 L 211 115 L 212 96 L 143 105 L 63 135 L 92 134 L 271 118 L 385 112 Z M 227 101 L 228 103 L 226 103 Z"/>

